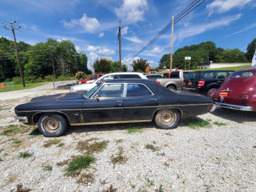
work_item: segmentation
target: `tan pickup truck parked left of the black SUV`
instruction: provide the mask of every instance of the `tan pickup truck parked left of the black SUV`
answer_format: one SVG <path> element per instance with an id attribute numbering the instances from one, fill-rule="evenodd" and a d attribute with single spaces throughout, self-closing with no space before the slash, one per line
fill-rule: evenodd
<path id="1" fill-rule="evenodd" d="M 184 70 L 172 71 L 172 73 L 166 73 L 163 75 L 167 78 L 152 78 L 152 80 L 156 81 L 158 84 L 166 87 L 167 89 L 181 90 L 183 78 L 185 78 L 188 73 L 189 71 Z"/>

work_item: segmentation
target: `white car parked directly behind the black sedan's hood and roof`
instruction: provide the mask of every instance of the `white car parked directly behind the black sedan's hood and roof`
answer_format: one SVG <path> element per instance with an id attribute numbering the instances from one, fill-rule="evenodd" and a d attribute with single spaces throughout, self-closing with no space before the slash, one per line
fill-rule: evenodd
<path id="1" fill-rule="evenodd" d="M 82 85 L 74 85 L 70 87 L 69 92 L 87 92 L 90 91 L 95 85 L 99 84 L 101 81 L 107 80 L 107 79 L 116 79 L 116 78 L 144 78 L 148 79 L 145 75 L 138 72 L 117 72 L 117 73 L 111 73 L 101 76 L 97 79 L 97 81 L 94 81 L 92 83 L 85 83 Z"/>

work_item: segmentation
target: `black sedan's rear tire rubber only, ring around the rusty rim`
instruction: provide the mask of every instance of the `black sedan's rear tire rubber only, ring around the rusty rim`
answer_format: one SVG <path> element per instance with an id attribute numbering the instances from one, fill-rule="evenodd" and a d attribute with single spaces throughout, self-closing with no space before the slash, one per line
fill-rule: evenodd
<path id="1" fill-rule="evenodd" d="M 166 125 L 161 122 L 160 118 L 161 118 L 161 113 L 163 111 L 172 111 L 172 113 L 174 114 L 174 121 L 172 124 Z M 176 109 L 161 109 L 157 112 L 155 116 L 155 123 L 160 129 L 173 129 L 178 125 L 179 121 L 180 121 L 180 114 Z"/>

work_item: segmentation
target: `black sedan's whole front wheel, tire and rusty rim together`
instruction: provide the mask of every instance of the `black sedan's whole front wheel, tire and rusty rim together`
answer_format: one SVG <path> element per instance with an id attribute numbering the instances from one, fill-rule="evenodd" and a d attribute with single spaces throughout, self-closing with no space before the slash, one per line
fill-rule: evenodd
<path id="1" fill-rule="evenodd" d="M 67 120 L 57 114 L 44 114 L 38 119 L 38 129 L 45 137 L 59 137 L 67 128 Z"/>

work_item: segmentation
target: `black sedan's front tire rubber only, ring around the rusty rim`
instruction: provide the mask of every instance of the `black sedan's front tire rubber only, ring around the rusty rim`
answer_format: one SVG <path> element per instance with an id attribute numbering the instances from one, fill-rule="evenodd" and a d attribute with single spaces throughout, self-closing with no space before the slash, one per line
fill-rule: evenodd
<path id="1" fill-rule="evenodd" d="M 53 117 L 55 119 L 57 119 L 60 123 L 60 129 L 55 132 L 55 133 L 51 133 L 46 131 L 45 127 L 44 127 L 44 121 L 47 117 Z M 55 114 L 45 114 L 42 115 L 39 119 L 38 119 L 38 129 L 39 131 L 45 136 L 45 137 L 59 137 L 60 135 L 62 135 L 66 129 L 67 129 L 67 121 L 65 118 L 61 117 L 60 115 L 55 115 Z"/>

